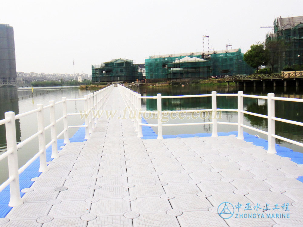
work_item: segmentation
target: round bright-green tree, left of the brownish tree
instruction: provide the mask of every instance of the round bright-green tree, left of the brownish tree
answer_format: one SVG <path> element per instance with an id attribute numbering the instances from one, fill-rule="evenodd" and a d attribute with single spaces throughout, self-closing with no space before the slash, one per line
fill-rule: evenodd
<path id="1" fill-rule="evenodd" d="M 264 44 L 253 44 L 250 46 L 250 49 L 244 54 L 244 61 L 253 68 L 256 68 L 261 65 L 266 65 L 269 61 L 268 51 L 264 49 Z"/>

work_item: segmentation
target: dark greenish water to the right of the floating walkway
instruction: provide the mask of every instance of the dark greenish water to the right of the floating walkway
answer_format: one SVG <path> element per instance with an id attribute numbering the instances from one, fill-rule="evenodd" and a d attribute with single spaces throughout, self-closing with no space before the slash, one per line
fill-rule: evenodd
<path id="1" fill-rule="evenodd" d="M 155 96 L 157 93 L 164 95 L 189 95 L 189 94 L 211 94 L 211 91 L 215 90 L 217 93 L 237 93 L 238 90 L 235 87 L 231 88 L 218 88 L 218 87 L 201 87 L 201 86 L 185 86 L 185 87 L 139 87 L 132 88 L 133 90 L 142 94 L 142 96 Z M 243 90 L 243 89 L 241 89 Z M 253 87 L 247 87 L 243 90 L 244 94 L 254 94 L 266 96 L 268 93 L 275 93 L 277 97 L 290 97 L 290 98 L 302 98 L 303 91 L 294 92 L 291 87 L 288 87 L 286 92 L 283 87 L 276 87 L 275 90 L 267 88 L 263 90 Z M 153 99 L 143 100 L 143 108 L 146 110 L 156 110 L 157 101 Z M 217 108 L 222 109 L 237 109 L 238 101 L 237 97 L 217 97 Z M 163 99 L 162 110 L 184 110 L 184 109 L 211 109 L 211 97 L 198 97 L 198 98 L 182 98 L 182 99 Z M 254 113 L 260 113 L 267 115 L 267 101 L 264 99 L 253 99 L 244 97 L 244 110 Z M 275 116 L 288 120 L 295 120 L 303 122 L 303 103 L 275 101 Z M 223 122 L 237 122 L 238 114 L 236 112 L 223 112 Z M 149 119 L 148 123 L 156 123 L 156 120 Z M 169 120 L 167 123 L 186 123 L 186 122 L 208 122 L 209 119 L 197 119 L 197 120 Z M 261 117 L 255 117 L 251 115 L 244 115 L 244 124 L 255 127 L 264 131 L 267 131 L 267 119 Z M 275 124 L 276 134 L 291 140 L 303 142 L 303 127 L 291 125 L 282 122 L 276 122 Z M 157 132 L 157 128 L 154 128 Z M 218 125 L 218 132 L 230 132 L 237 131 L 237 126 L 230 125 Z M 261 133 L 257 133 L 252 130 L 244 129 L 245 132 L 250 134 L 258 134 L 260 138 L 267 140 L 267 136 Z M 197 126 L 175 126 L 175 127 L 162 127 L 163 134 L 194 134 L 194 133 L 211 133 L 211 125 L 197 125 Z M 280 146 L 287 146 L 295 151 L 303 152 L 303 148 L 293 144 L 285 143 L 284 141 L 277 140 Z"/>

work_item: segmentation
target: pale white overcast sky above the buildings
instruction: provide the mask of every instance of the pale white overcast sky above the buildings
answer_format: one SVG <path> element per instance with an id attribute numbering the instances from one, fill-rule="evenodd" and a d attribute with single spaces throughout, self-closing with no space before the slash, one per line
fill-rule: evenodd
<path id="1" fill-rule="evenodd" d="M 17 71 L 91 74 L 114 58 L 202 51 L 202 36 L 245 53 L 276 17 L 302 16 L 303 1 L 4 1 L 0 23 L 15 33 Z M 207 49 L 207 45 L 205 45 Z"/>

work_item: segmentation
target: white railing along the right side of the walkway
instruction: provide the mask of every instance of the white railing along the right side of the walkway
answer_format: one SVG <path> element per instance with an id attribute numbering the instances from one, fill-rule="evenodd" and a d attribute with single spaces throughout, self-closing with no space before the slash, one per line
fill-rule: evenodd
<path id="1" fill-rule="evenodd" d="M 217 137 L 217 125 L 225 124 L 225 125 L 237 125 L 238 126 L 238 139 L 243 140 L 243 128 L 247 128 L 250 130 L 254 130 L 258 133 L 263 133 L 268 136 L 268 150 L 267 153 L 277 153 L 275 148 L 275 139 L 283 140 L 288 143 L 292 143 L 298 146 L 303 146 L 303 143 L 300 143 L 295 140 L 290 140 L 285 137 L 281 137 L 275 134 L 275 121 L 280 121 L 284 123 L 294 124 L 303 126 L 302 122 L 286 120 L 282 118 L 275 117 L 275 100 L 281 101 L 290 101 L 290 102 L 300 102 L 303 103 L 303 99 L 297 98 L 282 98 L 275 97 L 274 93 L 269 93 L 267 96 L 259 96 L 259 95 L 247 95 L 243 94 L 243 91 L 239 91 L 238 94 L 218 94 L 213 91 L 211 94 L 201 94 L 201 95 L 177 95 L 177 96 L 161 96 L 161 94 L 157 94 L 157 96 L 142 96 L 137 92 L 130 90 L 126 87 L 118 86 L 120 93 L 125 101 L 125 103 L 130 106 L 130 114 L 132 116 L 136 116 L 135 124 L 136 131 L 138 131 L 138 137 L 142 137 L 142 125 L 158 127 L 158 137 L 157 139 L 163 139 L 162 136 L 162 127 L 166 126 L 185 126 L 185 125 L 202 125 L 202 124 L 211 124 L 212 125 L 212 137 Z M 217 96 L 234 96 L 238 97 L 238 109 L 219 109 L 217 108 Z M 211 109 L 203 109 L 203 110 L 174 110 L 174 111 L 162 111 L 161 100 L 168 98 L 193 98 L 193 97 L 211 97 Z M 257 98 L 257 99 L 265 99 L 267 100 L 267 115 L 252 113 L 245 111 L 243 109 L 243 97 L 248 98 Z M 141 110 L 141 99 L 157 99 L 157 111 L 142 111 Z M 175 124 L 162 124 L 162 114 L 163 113 L 191 113 L 191 112 L 202 112 L 202 111 L 211 111 L 211 122 L 198 122 L 198 123 L 175 123 Z M 237 112 L 238 113 L 238 122 L 220 122 L 217 121 L 217 111 L 227 111 L 227 112 Z M 142 113 L 156 114 L 158 123 L 157 124 L 145 124 L 142 123 Z M 249 114 L 252 116 L 262 117 L 268 120 L 268 131 L 263 131 L 248 125 L 244 124 L 244 114 Z"/>

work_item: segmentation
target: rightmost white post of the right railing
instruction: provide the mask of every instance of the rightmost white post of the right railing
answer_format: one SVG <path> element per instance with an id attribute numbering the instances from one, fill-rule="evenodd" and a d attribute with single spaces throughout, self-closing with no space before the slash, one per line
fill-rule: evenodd
<path id="1" fill-rule="evenodd" d="M 275 117 L 275 100 L 272 98 L 275 97 L 274 93 L 267 94 L 267 122 L 268 122 L 268 149 L 267 153 L 275 154 L 277 153 L 275 147 L 275 120 L 272 118 Z"/>

